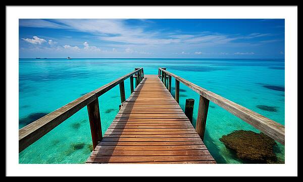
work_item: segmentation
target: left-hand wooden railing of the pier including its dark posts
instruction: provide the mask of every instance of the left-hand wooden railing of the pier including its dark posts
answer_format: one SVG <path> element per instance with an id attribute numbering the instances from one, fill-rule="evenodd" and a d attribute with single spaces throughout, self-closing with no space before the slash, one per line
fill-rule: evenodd
<path id="1" fill-rule="evenodd" d="M 101 119 L 99 112 L 98 97 L 119 84 L 121 103 L 125 101 L 124 80 L 130 78 L 130 91 L 134 91 L 133 78 L 135 78 L 135 86 L 144 78 L 143 68 L 135 68 L 135 71 L 120 77 L 111 83 L 108 83 L 94 91 L 91 91 L 82 97 L 60 107 L 59 109 L 35 120 L 33 123 L 19 130 L 19 152 L 30 146 L 32 143 L 43 137 L 49 131 L 56 128 L 64 120 L 72 116 L 84 106 L 87 106 L 88 118 L 90 124 L 90 132 L 92 138 L 93 149 L 99 141 L 102 140 Z"/>

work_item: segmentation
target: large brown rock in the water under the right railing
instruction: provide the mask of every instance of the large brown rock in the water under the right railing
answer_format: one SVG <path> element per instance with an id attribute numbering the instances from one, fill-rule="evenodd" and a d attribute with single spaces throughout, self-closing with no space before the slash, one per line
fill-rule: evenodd
<path id="1" fill-rule="evenodd" d="M 220 139 L 226 148 L 236 152 L 236 156 L 248 163 L 275 163 L 277 156 L 274 146 L 277 143 L 263 133 L 236 130 Z"/>

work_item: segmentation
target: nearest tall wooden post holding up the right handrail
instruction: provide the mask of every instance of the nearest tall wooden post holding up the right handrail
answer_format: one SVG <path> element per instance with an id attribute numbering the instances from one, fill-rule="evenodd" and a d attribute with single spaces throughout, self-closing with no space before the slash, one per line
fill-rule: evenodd
<path id="1" fill-rule="evenodd" d="M 210 104 L 210 101 L 200 95 L 199 108 L 198 108 L 198 115 L 197 115 L 197 122 L 196 122 L 195 130 L 199 134 L 202 141 L 204 140 L 204 133 L 205 133 L 206 119 L 207 119 L 209 104 Z"/>

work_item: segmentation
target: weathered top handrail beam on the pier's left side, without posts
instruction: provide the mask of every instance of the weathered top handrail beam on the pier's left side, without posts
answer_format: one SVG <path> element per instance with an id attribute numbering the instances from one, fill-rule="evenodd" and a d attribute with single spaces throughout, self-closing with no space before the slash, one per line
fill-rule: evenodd
<path id="1" fill-rule="evenodd" d="M 67 118 L 69 118 L 74 113 L 82 109 L 84 106 L 87 106 L 88 104 L 97 100 L 100 95 L 111 90 L 116 85 L 122 83 L 124 80 L 133 76 L 134 74 L 138 75 L 139 72 L 142 73 L 142 75 L 144 75 L 143 68 L 139 68 L 131 73 L 128 73 L 127 75 L 124 75 L 102 87 L 99 87 L 96 90 L 93 90 L 69 102 L 68 104 L 58 108 L 57 110 L 48 113 L 45 116 L 35 120 L 34 122 L 23 127 L 22 129 L 19 129 L 19 152 L 23 151 L 25 148 L 27 148 L 32 143 L 43 137 L 49 131 L 56 128 L 58 125 L 60 125 Z M 123 84 L 123 89 L 124 89 L 124 84 Z"/>

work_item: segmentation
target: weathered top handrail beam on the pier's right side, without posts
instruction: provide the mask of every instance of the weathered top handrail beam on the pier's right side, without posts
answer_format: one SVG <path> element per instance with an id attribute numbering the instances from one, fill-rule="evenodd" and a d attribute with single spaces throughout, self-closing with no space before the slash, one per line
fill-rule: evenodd
<path id="1" fill-rule="evenodd" d="M 200 96 L 214 102 L 221 106 L 228 112 L 242 119 L 244 122 L 260 130 L 264 134 L 268 135 L 272 139 L 280 142 L 284 145 L 285 142 L 285 127 L 272 119 L 269 119 L 255 111 L 252 111 L 246 107 L 243 107 L 235 102 L 232 102 L 218 94 L 215 94 L 207 89 L 197 86 L 173 73 L 170 73 L 162 68 L 160 71 L 174 77 L 179 82 L 183 83 L 193 91 L 197 92 Z M 161 74 L 160 74 L 161 75 Z"/>

